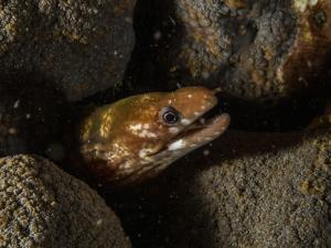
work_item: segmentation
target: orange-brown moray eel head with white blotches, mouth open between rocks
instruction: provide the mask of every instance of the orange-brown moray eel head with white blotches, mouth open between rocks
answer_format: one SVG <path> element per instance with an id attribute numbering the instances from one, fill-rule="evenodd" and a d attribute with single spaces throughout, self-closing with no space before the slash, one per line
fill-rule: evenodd
<path id="1" fill-rule="evenodd" d="M 153 177 L 226 130 L 227 114 L 199 121 L 217 104 L 216 91 L 185 87 L 98 107 L 79 125 L 78 152 L 104 185 L 122 186 Z"/>

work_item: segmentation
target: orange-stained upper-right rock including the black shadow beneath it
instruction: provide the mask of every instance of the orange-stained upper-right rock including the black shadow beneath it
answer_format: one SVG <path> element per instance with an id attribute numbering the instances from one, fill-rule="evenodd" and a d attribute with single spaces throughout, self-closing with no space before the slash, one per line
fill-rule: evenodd
<path id="1" fill-rule="evenodd" d="M 233 128 L 302 128 L 330 96 L 330 7 L 329 0 L 139 1 L 125 82 L 140 93 L 221 86 L 220 109 L 232 115 Z"/>

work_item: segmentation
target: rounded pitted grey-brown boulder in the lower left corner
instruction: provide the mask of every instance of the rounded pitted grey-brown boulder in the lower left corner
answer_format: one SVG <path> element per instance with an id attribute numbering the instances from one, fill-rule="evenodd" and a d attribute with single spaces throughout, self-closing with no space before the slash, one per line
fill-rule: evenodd
<path id="1" fill-rule="evenodd" d="M 85 183 L 39 157 L 0 159 L 0 247 L 131 247 Z"/>

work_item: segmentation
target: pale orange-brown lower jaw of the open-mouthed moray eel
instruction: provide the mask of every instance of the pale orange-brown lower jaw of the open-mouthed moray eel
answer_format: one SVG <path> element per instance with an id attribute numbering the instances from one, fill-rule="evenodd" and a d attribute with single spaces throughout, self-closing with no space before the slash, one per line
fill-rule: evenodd
<path id="1" fill-rule="evenodd" d="M 228 123 L 229 116 L 227 114 L 215 116 L 203 125 L 193 123 L 182 134 L 169 142 L 168 150 L 189 152 L 200 148 L 220 137 Z"/>

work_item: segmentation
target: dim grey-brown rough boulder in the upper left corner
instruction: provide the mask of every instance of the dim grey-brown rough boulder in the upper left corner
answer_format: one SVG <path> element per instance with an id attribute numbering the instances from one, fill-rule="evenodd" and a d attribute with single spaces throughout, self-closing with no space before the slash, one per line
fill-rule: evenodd
<path id="1" fill-rule="evenodd" d="M 135 43 L 135 0 L 0 3 L 1 77 L 34 74 L 72 100 L 120 84 Z M 18 74 L 20 74 L 18 76 Z"/>

